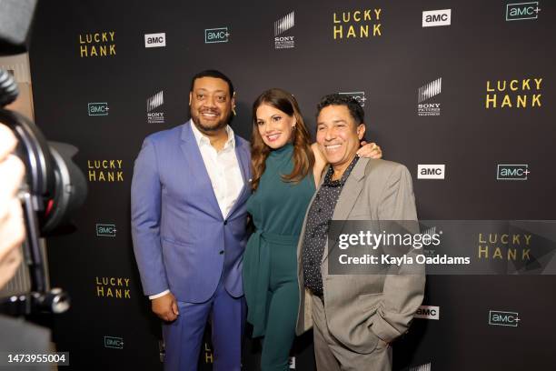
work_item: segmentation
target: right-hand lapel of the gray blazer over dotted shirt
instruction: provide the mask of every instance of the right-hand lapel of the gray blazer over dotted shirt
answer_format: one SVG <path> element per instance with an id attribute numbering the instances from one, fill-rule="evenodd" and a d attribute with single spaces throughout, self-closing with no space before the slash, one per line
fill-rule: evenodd
<path id="1" fill-rule="evenodd" d="M 360 158 L 357 164 L 352 169 L 352 174 L 350 174 L 343 186 L 342 193 L 338 197 L 338 202 L 336 202 L 336 207 L 334 208 L 333 220 L 340 223 L 340 231 L 343 230 L 343 225 L 345 224 L 348 216 L 352 212 L 353 206 L 357 198 L 361 194 L 362 187 L 365 180 L 365 167 L 369 162 L 368 158 Z M 323 261 L 328 258 L 330 252 L 337 246 L 338 241 L 333 242 L 333 246 L 328 246 L 328 252 L 323 254 Z"/>

